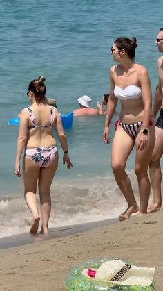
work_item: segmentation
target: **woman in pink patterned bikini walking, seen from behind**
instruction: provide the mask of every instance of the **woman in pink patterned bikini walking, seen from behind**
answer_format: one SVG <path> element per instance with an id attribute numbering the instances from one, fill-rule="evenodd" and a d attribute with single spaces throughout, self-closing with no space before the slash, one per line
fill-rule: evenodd
<path id="1" fill-rule="evenodd" d="M 52 128 L 55 127 L 64 151 L 63 164 L 72 167 L 68 156 L 66 134 L 57 109 L 47 104 L 45 78 L 39 77 L 30 82 L 28 98 L 32 105 L 21 111 L 15 174 L 20 177 L 20 160 L 23 157 L 24 197 L 34 222 L 30 233 L 35 234 L 39 228 L 39 211 L 37 208 L 37 183 L 41 204 L 42 226 L 40 233 L 48 233 L 48 221 L 51 210 L 50 185 L 58 166 L 58 151 Z"/>

